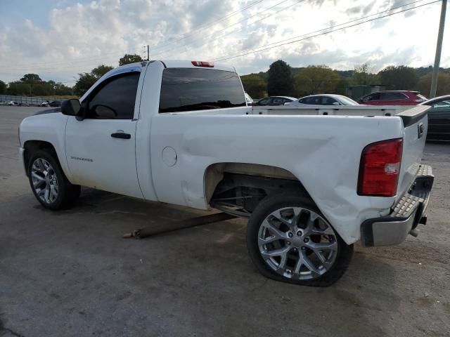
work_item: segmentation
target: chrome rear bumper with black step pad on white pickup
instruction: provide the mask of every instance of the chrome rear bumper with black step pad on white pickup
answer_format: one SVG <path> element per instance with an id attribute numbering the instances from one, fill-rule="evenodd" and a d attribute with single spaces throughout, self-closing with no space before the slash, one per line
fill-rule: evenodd
<path id="1" fill-rule="evenodd" d="M 391 246 L 404 242 L 419 223 L 425 225 L 425 211 L 434 176 L 429 165 L 420 165 L 413 185 L 392 206 L 388 216 L 371 218 L 361 224 L 363 246 Z"/>

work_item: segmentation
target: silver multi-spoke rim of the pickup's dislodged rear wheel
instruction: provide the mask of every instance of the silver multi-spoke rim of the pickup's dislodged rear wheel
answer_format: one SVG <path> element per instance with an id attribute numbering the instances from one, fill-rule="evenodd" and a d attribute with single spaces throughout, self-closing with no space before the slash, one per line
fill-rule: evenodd
<path id="1" fill-rule="evenodd" d="M 335 263 L 338 238 L 314 211 L 285 207 L 264 218 L 258 247 L 266 264 L 283 277 L 316 279 Z"/>

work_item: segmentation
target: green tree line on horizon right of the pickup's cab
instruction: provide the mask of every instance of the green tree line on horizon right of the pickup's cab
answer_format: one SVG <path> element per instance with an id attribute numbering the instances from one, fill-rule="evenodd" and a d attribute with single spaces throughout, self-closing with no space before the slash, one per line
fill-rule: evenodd
<path id="1" fill-rule="evenodd" d="M 269 71 L 241 76 L 245 91 L 253 98 L 293 96 L 296 98 L 319 93 L 347 94 L 355 85 L 381 85 L 386 90 L 420 91 L 430 93 L 432 67 L 413 68 L 405 65 L 385 67 L 375 72 L 368 63 L 354 70 L 332 70 L 326 65 L 290 67 L 285 61 L 273 62 Z M 437 95 L 450 94 L 450 68 L 439 70 Z"/>

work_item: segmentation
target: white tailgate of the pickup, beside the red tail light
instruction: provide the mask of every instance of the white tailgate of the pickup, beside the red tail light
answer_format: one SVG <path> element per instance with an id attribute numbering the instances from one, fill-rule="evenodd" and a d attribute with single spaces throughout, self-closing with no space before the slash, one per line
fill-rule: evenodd
<path id="1" fill-rule="evenodd" d="M 404 125 L 403 157 L 397 196 L 408 190 L 418 173 L 427 138 L 429 109 L 428 106 L 420 105 L 396 115 L 401 118 Z"/>

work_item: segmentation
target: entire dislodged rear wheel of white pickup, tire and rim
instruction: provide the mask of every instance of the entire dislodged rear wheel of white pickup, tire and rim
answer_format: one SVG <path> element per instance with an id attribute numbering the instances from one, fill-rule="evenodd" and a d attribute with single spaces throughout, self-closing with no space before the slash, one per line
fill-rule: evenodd
<path id="1" fill-rule="evenodd" d="M 314 203 L 299 194 L 263 199 L 247 227 L 247 246 L 262 275 L 281 282 L 330 286 L 353 255 Z"/>

